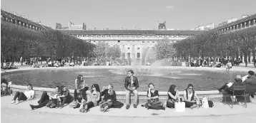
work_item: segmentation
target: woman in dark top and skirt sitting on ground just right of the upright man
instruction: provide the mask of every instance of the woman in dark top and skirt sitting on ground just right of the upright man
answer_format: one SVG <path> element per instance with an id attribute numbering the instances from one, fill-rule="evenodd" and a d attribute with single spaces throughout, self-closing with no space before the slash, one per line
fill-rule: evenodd
<path id="1" fill-rule="evenodd" d="M 163 103 L 159 101 L 159 94 L 154 90 L 154 84 L 149 83 L 149 90 L 147 91 L 147 109 L 165 109 Z"/>

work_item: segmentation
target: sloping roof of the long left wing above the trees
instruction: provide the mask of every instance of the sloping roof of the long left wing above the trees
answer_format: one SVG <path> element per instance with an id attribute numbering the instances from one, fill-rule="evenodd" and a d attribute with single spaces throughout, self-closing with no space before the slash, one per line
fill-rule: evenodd
<path id="1" fill-rule="evenodd" d="M 48 26 L 44 26 L 44 25 L 41 25 L 39 23 L 35 23 L 33 21 L 29 21 L 26 18 L 22 18 L 20 16 L 16 16 L 14 14 L 10 14 L 9 12 L 3 11 L 3 10 L 1 10 L 1 15 L 2 16 L 6 16 L 6 17 L 11 18 L 11 19 L 14 19 L 14 20 L 17 20 L 17 21 L 21 21 L 21 22 L 27 23 L 27 24 L 29 24 L 31 26 L 37 26 L 39 28 L 43 28 L 43 29 L 46 29 L 46 30 L 52 30 L 52 28 L 50 28 Z"/>

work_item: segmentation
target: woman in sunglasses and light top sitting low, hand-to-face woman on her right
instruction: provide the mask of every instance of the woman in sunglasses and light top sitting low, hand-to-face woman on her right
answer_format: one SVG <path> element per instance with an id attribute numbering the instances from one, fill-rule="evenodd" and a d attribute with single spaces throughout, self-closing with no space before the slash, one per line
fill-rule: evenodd
<path id="1" fill-rule="evenodd" d="M 92 90 L 87 90 L 88 99 L 84 101 L 82 109 L 80 112 L 88 112 L 88 110 L 92 107 L 96 107 L 101 99 L 99 85 L 92 85 Z"/>

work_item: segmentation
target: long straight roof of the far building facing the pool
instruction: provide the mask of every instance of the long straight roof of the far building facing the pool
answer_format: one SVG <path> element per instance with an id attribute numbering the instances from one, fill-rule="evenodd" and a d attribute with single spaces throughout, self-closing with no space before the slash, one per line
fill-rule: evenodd
<path id="1" fill-rule="evenodd" d="M 179 35 L 195 36 L 205 31 L 155 31 L 155 30 L 59 30 L 69 35 Z"/>

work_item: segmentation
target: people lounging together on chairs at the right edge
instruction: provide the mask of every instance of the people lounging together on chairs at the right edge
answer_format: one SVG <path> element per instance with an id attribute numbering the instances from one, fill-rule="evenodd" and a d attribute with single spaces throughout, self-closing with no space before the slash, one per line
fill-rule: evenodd
<path id="1" fill-rule="evenodd" d="M 237 75 L 235 77 L 235 82 L 227 82 L 225 85 L 220 87 L 220 92 L 227 92 L 229 95 L 233 95 L 234 85 L 256 85 L 256 74 L 254 71 L 248 71 L 248 75 L 241 77 L 241 75 Z M 238 93 L 236 95 L 242 95 L 243 93 Z M 251 95 L 254 97 L 254 95 Z"/>

